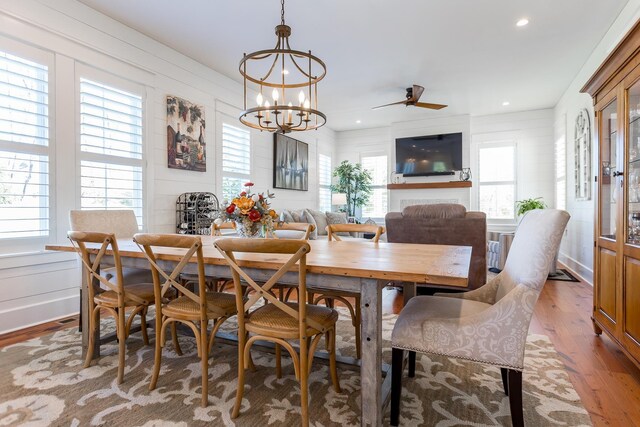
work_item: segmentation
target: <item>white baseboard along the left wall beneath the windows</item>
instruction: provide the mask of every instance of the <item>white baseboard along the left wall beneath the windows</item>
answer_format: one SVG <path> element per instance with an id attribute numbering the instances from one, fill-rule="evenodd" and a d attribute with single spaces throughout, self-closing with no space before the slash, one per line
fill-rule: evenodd
<path id="1" fill-rule="evenodd" d="M 78 314 L 78 295 L 16 307 L 0 313 L 0 334 Z"/>

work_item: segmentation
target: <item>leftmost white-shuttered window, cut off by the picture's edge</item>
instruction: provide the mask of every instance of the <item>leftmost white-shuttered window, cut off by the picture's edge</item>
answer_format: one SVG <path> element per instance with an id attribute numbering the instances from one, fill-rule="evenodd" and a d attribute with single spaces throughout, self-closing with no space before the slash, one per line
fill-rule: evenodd
<path id="1" fill-rule="evenodd" d="M 0 51 L 0 239 L 49 235 L 49 70 Z"/>

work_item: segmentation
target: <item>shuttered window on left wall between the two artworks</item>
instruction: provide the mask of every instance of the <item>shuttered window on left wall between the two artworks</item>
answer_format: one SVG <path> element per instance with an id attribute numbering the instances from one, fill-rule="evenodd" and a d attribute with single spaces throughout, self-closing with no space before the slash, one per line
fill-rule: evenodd
<path id="1" fill-rule="evenodd" d="M 233 199 L 251 180 L 251 134 L 222 124 L 222 197 Z"/>

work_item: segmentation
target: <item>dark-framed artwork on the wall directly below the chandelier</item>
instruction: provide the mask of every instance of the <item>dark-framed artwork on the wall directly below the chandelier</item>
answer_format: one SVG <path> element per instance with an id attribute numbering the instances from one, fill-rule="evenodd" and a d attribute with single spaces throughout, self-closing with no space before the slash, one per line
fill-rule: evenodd
<path id="1" fill-rule="evenodd" d="M 276 133 L 273 136 L 273 187 L 309 190 L 309 146 Z"/>

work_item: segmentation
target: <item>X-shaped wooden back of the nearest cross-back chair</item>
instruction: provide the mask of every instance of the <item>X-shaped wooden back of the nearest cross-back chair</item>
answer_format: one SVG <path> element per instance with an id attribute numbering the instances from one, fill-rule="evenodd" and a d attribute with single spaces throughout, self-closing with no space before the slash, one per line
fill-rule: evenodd
<path id="1" fill-rule="evenodd" d="M 307 300 L 307 254 L 311 251 L 311 246 L 304 240 L 291 239 L 220 239 L 214 242 L 214 246 L 220 251 L 223 258 L 231 267 L 234 287 L 236 290 L 236 306 L 238 308 L 238 334 L 243 334 L 245 312 L 247 312 L 260 299 L 264 298 L 268 303 L 274 304 L 278 309 L 293 317 L 298 321 L 300 336 L 305 335 L 307 326 L 317 330 L 322 330 L 322 326 L 308 319 L 306 316 Z M 289 259 L 280 267 L 266 282 L 256 282 L 240 267 L 235 258 L 235 253 L 263 253 L 263 254 L 285 254 L 291 255 Z M 271 288 L 290 270 L 298 264 L 298 310 L 280 301 L 272 292 Z M 244 293 L 241 284 L 246 284 L 249 289 L 255 291 L 250 294 L 246 302 L 243 300 Z"/>

